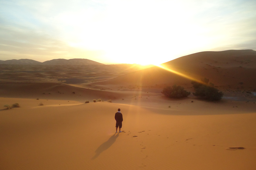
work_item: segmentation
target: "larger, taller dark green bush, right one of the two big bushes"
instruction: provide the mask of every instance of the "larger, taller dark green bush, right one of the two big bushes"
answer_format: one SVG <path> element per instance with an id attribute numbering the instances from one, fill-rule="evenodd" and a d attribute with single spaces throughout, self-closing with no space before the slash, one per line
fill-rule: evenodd
<path id="1" fill-rule="evenodd" d="M 220 100 L 223 96 L 222 92 L 219 92 L 217 88 L 214 87 L 214 84 L 209 83 L 209 79 L 204 78 L 202 79 L 203 83 L 199 83 L 196 81 L 192 81 L 191 84 L 195 89 L 194 96 L 204 98 L 210 101 L 217 101 Z"/>

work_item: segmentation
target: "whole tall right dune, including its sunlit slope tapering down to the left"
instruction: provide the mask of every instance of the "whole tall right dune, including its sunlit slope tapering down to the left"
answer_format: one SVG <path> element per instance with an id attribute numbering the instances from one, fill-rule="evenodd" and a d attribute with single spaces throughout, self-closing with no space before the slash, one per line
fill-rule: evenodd
<path id="1" fill-rule="evenodd" d="M 179 84 L 191 87 L 191 80 L 209 78 L 216 86 L 229 88 L 253 88 L 256 79 L 256 51 L 227 50 L 204 51 L 186 55 L 161 64 L 162 66 L 184 74 L 191 79 L 182 77 L 157 66 L 119 76 L 114 79 L 92 84 L 122 85 L 156 85 Z"/>

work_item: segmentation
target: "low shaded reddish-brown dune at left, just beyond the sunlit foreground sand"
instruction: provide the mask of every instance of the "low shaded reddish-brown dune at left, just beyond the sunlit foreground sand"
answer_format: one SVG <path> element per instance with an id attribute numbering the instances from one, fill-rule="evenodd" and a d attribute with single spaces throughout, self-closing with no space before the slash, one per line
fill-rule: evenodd
<path id="1" fill-rule="evenodd" d="M 86 89 L 62 83 L 0 83 L 1 97 L 59 100 L 118 99 L 125 92 Z"/>

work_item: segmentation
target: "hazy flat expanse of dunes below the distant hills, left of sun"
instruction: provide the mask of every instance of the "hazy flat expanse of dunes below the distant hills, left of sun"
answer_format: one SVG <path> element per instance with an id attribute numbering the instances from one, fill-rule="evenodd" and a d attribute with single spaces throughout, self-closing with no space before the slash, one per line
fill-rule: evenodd
<path id="1" fill-rule="evenodd" d="M 111 65 L 17 65 L 0 63 L 0 82 L 58 82 L 67 84 L 107 80 L 149 66 Z M 20 79 L 24 76 L 30 79 Z M 76 80 L 74 80 L 76 78 Z M 73 79 L 73 80 L 72 80 Z"/>

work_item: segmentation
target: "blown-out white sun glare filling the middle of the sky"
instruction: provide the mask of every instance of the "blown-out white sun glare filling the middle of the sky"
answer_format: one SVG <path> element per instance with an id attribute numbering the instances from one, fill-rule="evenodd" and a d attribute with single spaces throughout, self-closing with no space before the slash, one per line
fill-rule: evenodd
<path id="1" fill-rule="evenodd" d="M 147 8 L 144 8 L 145 4 Z M 187 14 L 180 13 L 175 8 L 170 10 L 171 4 L 168 1 L 141 1 L 134 6 L 130 1 L 115 1 L 108 4 L 109 7 L 104 11 L 64 13 L 56 20 L 69 25 L 66 21 L 75 18 L 69 16 L 79 16 L 72 20 L 75 31 L 67 34 L 71 37 L 67 37 L 66 41 L 75 48 L 102 51 L 104 55 L 98 57 L 102 61 L 98 62 L 155 65 L 187 54 L 181 52 L 184 47 L 186 51 L 196 52 L 198 46 L 207 44 L 206 40 L 198 36 L 199 33 L 205 34 L 204 29 L 191 23 Z M 176 5 L 183 7 L 182 3 Z M 143 15 L 141 8 L 145 13 Z M 154 13 L 152 9 L 155 10 Z M 176 16 L 177 13 L 179 19 L 172 17 L 172 22 L 165 22 L 169 20 L 167 16 Z M 145 15 L 150 20 L 144 20 Z M 178 23 L 179 26 L 172 23 Z M 189 32 L 185 30 L 187 25 L 190 27 Z"/>

